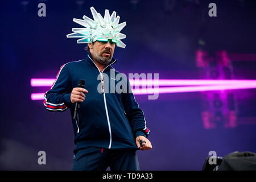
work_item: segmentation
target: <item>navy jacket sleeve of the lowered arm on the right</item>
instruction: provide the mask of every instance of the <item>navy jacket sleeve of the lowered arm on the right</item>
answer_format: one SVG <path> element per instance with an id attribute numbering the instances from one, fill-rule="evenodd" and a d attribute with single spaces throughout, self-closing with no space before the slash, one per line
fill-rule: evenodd
<path id="1" fill-rule="evenodd" d="M 128 118 L 131 129 L 133 130 L 135 138 L 139 135 L 148 137 L 150 130 L 146 126 L 146 121 L 144 113 L 139 109 L 138 103 L 135 101 L 133 92 L 131 91 L 131 86 L 129 79 L 127 79 L 127 92 L 122 93 L 122 104 L 125 109 L 126 117 Z"/>

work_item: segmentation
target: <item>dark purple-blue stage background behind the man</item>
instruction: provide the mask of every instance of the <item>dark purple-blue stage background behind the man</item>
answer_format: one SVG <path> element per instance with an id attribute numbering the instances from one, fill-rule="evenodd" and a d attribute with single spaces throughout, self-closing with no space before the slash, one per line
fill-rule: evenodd
<path id="1" fill-rule="evenodd" d="M 40 2 L 46 3 L 46 17 L 38 16 Z M 208 15 L 211 2 L 217 5 L 217 17 Z M 110 14 L 116 11 L 120 23 L 127 23 L 122 30 L 126 48 L 115 48 L 117 71 L 159 73 L 160 79 L 203 79 L 196 64 L 200 49 L 210 57 L 217 51 L 249 55 L 250 60 L 231 60 L 233 79 L 256 78 L 255 1 L 48 0 L 1 1 L 0 5 L 3 170 L 72 168 L 75 145 L 70 111 L 50 113 L 43 100 L 32 101 L 31 93 L 48 88 L 31 87 L 30 79 L 55 78 L 61 65 L 84 59 L 84 45 L 66 35 L 72 27 L 81 27 L 73 18 L 92 18 L 91 6 L 101 15 L 105 9 Z M 153 146 L 138 151 L 141 170 L 201 170 L 209 151 L 218 156 L 256 152 L 255 89 L 229 93 L 236 102 L 236 126 L 218 121 L 208 129 L 201 117 L 205 93 L 159 94 L 158 100 L 135 96 Z M 46 151 L 46 165 L 38 164 L 38 151 Z"/>

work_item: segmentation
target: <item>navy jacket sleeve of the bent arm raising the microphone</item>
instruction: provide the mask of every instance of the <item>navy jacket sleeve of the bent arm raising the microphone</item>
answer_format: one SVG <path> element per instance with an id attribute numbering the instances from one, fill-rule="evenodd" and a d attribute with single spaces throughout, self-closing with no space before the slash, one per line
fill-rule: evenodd
<path id="1" fill-rule="evenodd" d="M 71 76 L 67 65 L 64 64 L 50 90 L 44 94 L 44 106 L 49 111 L 64 111 L 72 104 Z"/>

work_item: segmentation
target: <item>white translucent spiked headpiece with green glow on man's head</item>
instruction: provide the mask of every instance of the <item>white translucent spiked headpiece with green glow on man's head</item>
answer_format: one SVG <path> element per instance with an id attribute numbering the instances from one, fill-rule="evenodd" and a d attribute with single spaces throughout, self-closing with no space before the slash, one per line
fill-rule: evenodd
<path id="1" fill-rule="evenodd" d="M 94 20 L 85 15 L 82 17 L 84 20 L 74 18 L 73 22 L 81 24 L 85 28 L 72 28 L 73 33 L 68 34 L 67 38 L 81 38 L 77 40 L 78 44 L 112 39 L 112 42 L 116 43 L 117 47 L 125 48 L 126 45 L 121 39 L 125 39 L 126 35 L 120 33 L 120 31 L 126 26 L 126 22 L 118 24 L 120 17 L 115 17 L 117 14 L 115 11 L 110 16 L 109 10 L 105 10 L 104 18 L 100 13 L 97 13 L 94 7 L 90 7 L 90 11 L 92 11 Z"/>

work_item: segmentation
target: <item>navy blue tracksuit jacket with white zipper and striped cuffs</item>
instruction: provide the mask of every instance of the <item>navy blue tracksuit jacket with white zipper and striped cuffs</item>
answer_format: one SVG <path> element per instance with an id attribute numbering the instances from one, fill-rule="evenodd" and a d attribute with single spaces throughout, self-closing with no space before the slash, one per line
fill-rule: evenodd
<path id="1" fill-rule="evenodd" d="M 110 77 L 112 65 L 117 60 L 112 59 L 102 71 L 115 84 L 119 80 Z M 115 75 L 119 72 L 114 71 Z M 146 126 L 143 111 L 135 101 L 133 93 L 98 93 L 97 87 L 100 70 L 88 52 L 84 60 L 64 64 L 57 74 L 56 81 L 44 96 L 44 106 L 49 111 L 71 110 L 76 148 L 74 152 L 85 147 L 138 149 L 135 138 L 139 135 L 147 137 L 150 132 Z M 105 76 L 106 77 L 106 76 Z M 107 78 L 104 77 L 104 81 Z M 81 102 L 77 120 L 73 119 L 75 104 L 70 96 L 72 89 L 77 87 L 80 79 L 85 80 L 86 93 Z M 127 77 L 126 77 L 127 79 Z M 127 88 L 130 89 L 127 79 Z M 110 88 L 110 86 L 109 86 Z"/>

